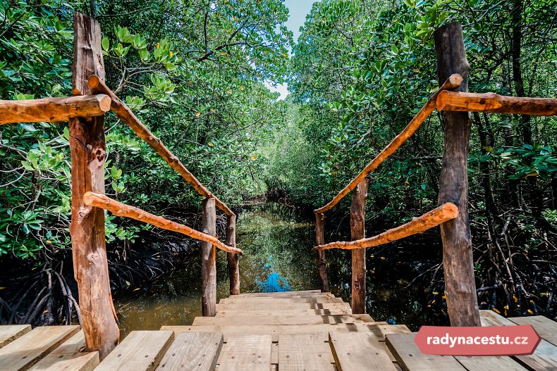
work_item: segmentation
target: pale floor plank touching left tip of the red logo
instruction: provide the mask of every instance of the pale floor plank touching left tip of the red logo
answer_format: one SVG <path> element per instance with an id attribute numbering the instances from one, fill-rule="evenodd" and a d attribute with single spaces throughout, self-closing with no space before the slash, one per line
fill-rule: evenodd
<path id="1" fill-rule="evenodd" d="M 450 356 L 424 354 L 414 342 L 415 333 L 387 334 L 386 344 L 398 365 L 405 371 L 466 370 Z"/>

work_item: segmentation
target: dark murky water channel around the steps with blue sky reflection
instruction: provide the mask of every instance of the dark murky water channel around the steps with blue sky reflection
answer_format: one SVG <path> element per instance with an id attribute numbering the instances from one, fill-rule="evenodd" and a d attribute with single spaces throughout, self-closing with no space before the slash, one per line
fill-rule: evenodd
<path id="1" fill-rule="evenodd" d="M 245 210 L 238 217 L 237 227 L 237 244 L 244 251 L 240 257 L 240 291 L 318 289 L 315 254 L 311 252 L 314 236 L 314 225 L 300 218 L 293 208 L 265 203 Z M 328 258 L 331 291 L 350 302 L 350 255 L 334 251 Z M 405 323 L 411 328 L 431 322 L 417 302 L 415 291 L 405 288 L 408 282 L 395 277 L 391 268 L 381 266 L 382 262 L 380 256 L 368 253 L 369 315 L 374 320 Z M 176 270 L 166 282 L 137 289 L 135 297 L 116 301 L 123 335 L 162 325 L 190 325 L 201 315 L 200 277 L 200 260 L 193 259 L 188 268 Z M 226 253 L 217 251 L 217 302 L 226 296 Z"/>

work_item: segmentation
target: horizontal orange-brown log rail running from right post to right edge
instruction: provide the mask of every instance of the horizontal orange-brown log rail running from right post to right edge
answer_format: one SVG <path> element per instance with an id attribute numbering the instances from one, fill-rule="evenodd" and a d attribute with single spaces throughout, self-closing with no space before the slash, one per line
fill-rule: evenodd
<path id="1" fill-rule="evenodd" d="M 439 111 L 557 115 L 557 99 L 503 96 L 495 93 L 441 92 L 436 106 Z"/>

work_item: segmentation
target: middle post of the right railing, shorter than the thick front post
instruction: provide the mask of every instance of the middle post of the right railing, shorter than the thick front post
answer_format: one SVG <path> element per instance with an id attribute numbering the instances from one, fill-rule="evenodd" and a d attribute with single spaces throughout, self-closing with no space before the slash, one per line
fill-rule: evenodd
<path id="1" fill-rule="evenodd" d="M 365 201 L 367 179 L 362 180 L 352 194 L 350 206 L 350 237 L 353 241 L 365 238 Z M 352 313 L 365 313 L 365 250 L 352 251 Z"/>

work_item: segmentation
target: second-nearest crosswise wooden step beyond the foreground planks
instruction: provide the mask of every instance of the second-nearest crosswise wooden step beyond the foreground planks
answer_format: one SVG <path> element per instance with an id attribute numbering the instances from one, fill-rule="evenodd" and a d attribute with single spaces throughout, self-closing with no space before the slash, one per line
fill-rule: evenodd
<path id="1" fill-rule="evenodd" d="M 374 321 L 369 315 L 259 315 L 257 317 L 195 317 L 193 325 L 319 325 L 355 322 Z"/>

